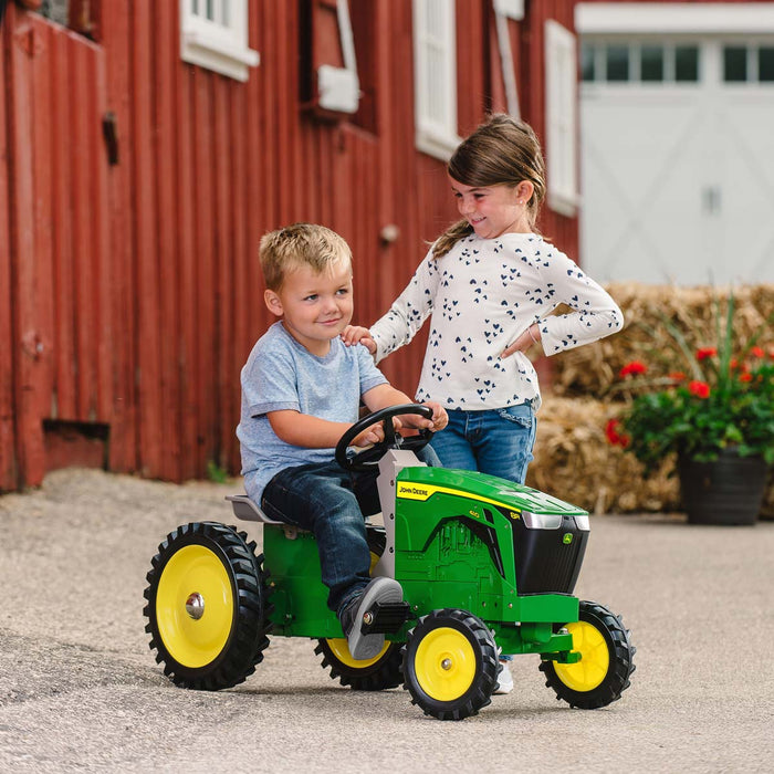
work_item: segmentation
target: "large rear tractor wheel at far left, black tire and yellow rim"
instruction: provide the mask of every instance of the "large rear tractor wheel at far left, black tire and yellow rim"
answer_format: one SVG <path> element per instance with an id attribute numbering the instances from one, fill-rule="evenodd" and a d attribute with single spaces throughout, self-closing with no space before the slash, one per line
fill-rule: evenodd
<path id="1" fill-rule="evenodd" d="M 177 686 L 215 691 L 255 671 L 271 628 L 262 559 L 245 533 L 215 522 L 180 526 L 159 545 L 145 630 Z"/>

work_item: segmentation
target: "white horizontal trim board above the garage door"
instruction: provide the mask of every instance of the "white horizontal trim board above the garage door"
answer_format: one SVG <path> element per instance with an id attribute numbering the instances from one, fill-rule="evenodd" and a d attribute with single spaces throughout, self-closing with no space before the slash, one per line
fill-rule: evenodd
<path id="1" fill-rule="evenodd" d="M 578 34 L 763 34 L 774 32 L 774 2 L 579 2 Z"/>

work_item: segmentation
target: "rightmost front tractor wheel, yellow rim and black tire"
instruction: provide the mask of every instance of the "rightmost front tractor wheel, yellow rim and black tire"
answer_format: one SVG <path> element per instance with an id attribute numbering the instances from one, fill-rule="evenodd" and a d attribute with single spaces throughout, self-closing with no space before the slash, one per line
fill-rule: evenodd
<path id="1" fill-rule="evenodd" d="M 629 687 L 637 649 L 620 616 L 604 605 L 582 600 L 578 618 L 565 628 L 573 635 L 573 650 L 580 653 L 580 660 L 542 661 L 540 669 L 557 699 L 582 710 L 596 710 L 620 699 Z"/>

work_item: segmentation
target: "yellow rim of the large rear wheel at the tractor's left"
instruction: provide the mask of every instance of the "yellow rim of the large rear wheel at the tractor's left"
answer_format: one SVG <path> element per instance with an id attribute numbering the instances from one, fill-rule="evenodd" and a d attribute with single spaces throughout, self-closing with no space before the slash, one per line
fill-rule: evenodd
<path id="1" fill-rule="evenodd" d="M 203 667 L 222 651 L 233 624 L 233 593 L 212 551 L 188 545 L 167 562 L 156 593 L 156 621 L 164 647 L 184 667 Z"/>

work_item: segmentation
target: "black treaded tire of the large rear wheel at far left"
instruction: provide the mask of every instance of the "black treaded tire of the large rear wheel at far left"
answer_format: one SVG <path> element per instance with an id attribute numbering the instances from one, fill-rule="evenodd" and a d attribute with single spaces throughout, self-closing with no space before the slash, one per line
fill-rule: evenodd
<path id="1" fill-rule="evenodd" d="M 170 648 L 164 642 L 157 616 L 157 595 L 165 569 L 178 552 L 189 546 L 203 548 L 205 555 L 215 566 L 217 559 L 222 563 L 233 600 L 233 607 L 228 614 L 230 624 L 223 646 L 208 662 L 196 667 L 186 666 L 171 655 Z M 145 630 L 150 635 L 149 647 L 156 650 L 156 661 L 164 665 L 164 673 L 175 684 L 208 691 L 231 688 L 243 682 L 255 671 L 255 665 L 262 661 L 263 650 L 269 645 L 266 635 L 271 630 L 269 616 L 273 607 L 268 603 L 268 573 L 262 569 L 263 555 L 257 556 L 255 547 L 254 542 L 247 542 L 247 533 L 216 522 L 179 526 L 158 546 L 158 553 L 147 574 L 147 605 L 143 613 L 148 619 Z M 181 597 L 180 605 L 185 606 Z M 197 625 L 198 621 L 195 626 Z M 226 628 L 223 626 L 223 631 Z M 185 641 L 185 636 L 179 639 Z"/>

